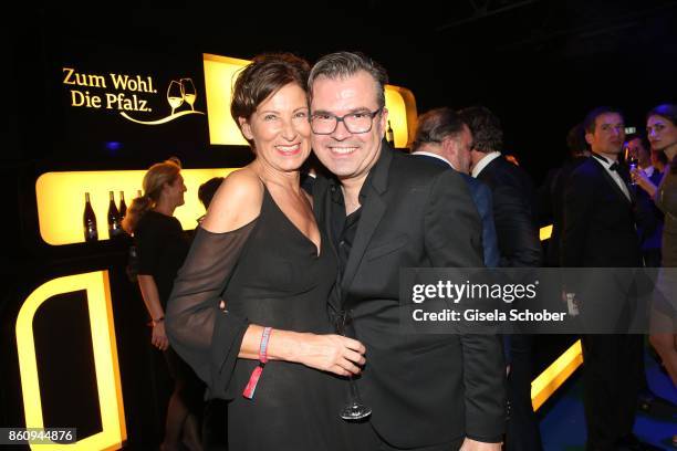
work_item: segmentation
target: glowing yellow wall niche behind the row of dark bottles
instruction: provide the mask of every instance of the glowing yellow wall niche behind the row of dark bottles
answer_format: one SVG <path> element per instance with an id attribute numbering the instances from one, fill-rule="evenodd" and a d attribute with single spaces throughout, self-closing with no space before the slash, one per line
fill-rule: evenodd
<path id="1" fill-rule="evenodd" d="M 205 213 L 197 191 L 200 185 L 212 177 L 226 177 L 233 168 L 183 169 L 186 188 L 186 203 L 176 209 L 174 216 L 181 222 L 184 230 L 195 229 L 197 219 Z M 84 193 L 90 193 L 92 208 L 96 214 L 98 239 L 108 239 L 108 191 L 115 192 L 115 203 L 119 207 L 119 191 L 125 192 L 127 208 L 136 191 L 142 189 L 145 170 L 108 170 L 81 172 L 48 172 L 38 178 L 38 218 L 42 239 L 53 245 L 84 242 L 83 213 Z"/>

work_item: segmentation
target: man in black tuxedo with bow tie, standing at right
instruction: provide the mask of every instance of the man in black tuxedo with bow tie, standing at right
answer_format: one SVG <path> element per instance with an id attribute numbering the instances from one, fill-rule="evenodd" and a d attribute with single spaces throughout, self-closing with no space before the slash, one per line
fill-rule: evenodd
<path id="1" fill-rule="evenodd" d="M 639 268 L 636 198 L 626 170 L 618 165 L 625 138 L 623 116 L 616 109 L 598 107 L 587 114 L 583 125 L 592 158 L 569 177 L 561 265 Z M 618 306 L 627 305 L 621 295 L 611 308 L 595 305 L 601 300 L 584 298 L 584 295 L 579 302 L 584 311 L 603 308 L 604 315 L 612 315 Z M 581 338 L 586 449 L 649 449 L 632 434 L 642 377 L 642 336 L 596 334 Z"/>

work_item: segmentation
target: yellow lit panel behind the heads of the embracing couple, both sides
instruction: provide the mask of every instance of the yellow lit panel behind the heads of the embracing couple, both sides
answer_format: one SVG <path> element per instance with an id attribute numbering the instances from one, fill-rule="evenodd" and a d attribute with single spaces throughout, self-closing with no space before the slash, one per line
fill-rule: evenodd
<path id="1" fill-rule="evenodd" d="M 205 53 L 205 90 L 207 91 L 207 113 L 209 122 L 209 141 L 220 145 L 242 145 L 240 129 L 230 116 L 232 85 L 237 72 L 250 63 L 229 56 Z M 386 108 L 389 112 L 390 126 L 395 133 L 396 147 L 409 147 L 416 130 L 416 99 L 407 88 L 386 85 Z"/>

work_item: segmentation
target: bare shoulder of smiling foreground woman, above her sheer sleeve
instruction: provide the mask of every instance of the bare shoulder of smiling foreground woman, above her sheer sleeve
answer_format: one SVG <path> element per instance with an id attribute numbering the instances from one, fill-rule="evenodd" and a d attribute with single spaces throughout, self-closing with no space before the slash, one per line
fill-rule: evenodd
<path id="1" fill-rule="evenodd" d="M 226 177 L 213 196 L 201 227 L 223 233 L 239 229 L 258 218 L 263 202 L 263 182 L 249 167 Z"/>

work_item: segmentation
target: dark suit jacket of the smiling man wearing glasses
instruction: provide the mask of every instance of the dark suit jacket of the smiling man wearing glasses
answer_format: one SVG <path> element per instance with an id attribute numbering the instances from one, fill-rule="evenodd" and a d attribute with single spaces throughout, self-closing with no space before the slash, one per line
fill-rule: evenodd
<path id="1" fill-rule="evenodd" d="M 373 408 L 372 426 L 398 448 L 464 436 L 500 441 L 506 402 L 500 339 L 399 331 L 402 268 L 483 266 L 482 228 L 468 185 L 452 170 L 385 144 L 365 183 L 355 240 L 330 304 L 352 310 L 356 336 L 366 346 L 358 384 Z M 313 191 L 327 237 L 332 187 L 340 189 L 319 177 Z"/>

